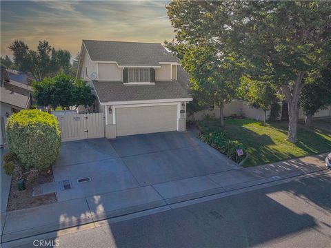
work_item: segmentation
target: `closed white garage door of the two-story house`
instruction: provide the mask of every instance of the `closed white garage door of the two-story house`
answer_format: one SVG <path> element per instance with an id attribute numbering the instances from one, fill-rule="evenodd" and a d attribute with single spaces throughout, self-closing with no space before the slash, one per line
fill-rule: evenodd
<path id="1" fill-rule="evenodd" d="M 177 105 L 117 107 L 116 134 L 148 134 L 177 130 Z"/>

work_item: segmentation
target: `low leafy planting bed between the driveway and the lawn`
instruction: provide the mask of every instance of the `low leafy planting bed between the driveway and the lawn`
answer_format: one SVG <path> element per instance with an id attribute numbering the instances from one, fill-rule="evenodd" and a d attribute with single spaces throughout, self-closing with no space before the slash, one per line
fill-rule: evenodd
<path id="1" fill-rule="evenodd" d="M 241 162 L 246 156 L 243 144 L 239 141 L 230 141 L 228 136 L 226 136 L 222 130 L 215 130 L 214 128 L 206 129 L 199 138 L 204 143 L 214 147 L 219 152 L 237 163 Z M 238 156 L 237 149 L 243 149 L 242 156 Z"/>

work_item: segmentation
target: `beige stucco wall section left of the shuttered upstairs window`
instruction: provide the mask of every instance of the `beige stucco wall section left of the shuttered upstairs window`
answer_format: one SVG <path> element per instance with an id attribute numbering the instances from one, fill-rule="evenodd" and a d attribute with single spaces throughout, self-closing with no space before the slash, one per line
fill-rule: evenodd
<path id="1" fill-rule="evenodd" d="M 122 68 L 116 63 L 98 63 L 99 81 L 122 81 Z"/>

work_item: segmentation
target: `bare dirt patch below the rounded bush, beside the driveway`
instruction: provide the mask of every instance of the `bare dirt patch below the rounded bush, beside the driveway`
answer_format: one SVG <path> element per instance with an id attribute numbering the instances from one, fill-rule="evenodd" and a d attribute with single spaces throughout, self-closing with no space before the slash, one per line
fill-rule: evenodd
<path id="1" fill-rule="evenodd" d="M 17 189 L 17 178 L 17 174 L 12 175 L 12 185 L 10 187 L 7 211 L 38 207 L 57 202 L 57 196 L 55 196 L 55 194 L 35 197 L 32 196 L 34 187 L 43 183 L 51 183 L 54 181 L 52 169 L 48 169 L 45 172 L 40 172 L 39 176 L 30 182 L 26 181 L 26 189 L 23 191 L 19 191 Z"/>

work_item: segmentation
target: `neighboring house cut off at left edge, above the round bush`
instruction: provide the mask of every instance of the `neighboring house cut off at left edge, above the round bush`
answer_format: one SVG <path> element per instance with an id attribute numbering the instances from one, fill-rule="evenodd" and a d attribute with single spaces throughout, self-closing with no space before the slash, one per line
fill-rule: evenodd
<path id="1" fill-rule="evenodd" d="M 31 87 L 11 81 L 6 68 L 1 66 L 1 147 L 6 138 L 5 125 L 7 118 L 14 112 L 30 107 Z"/>

